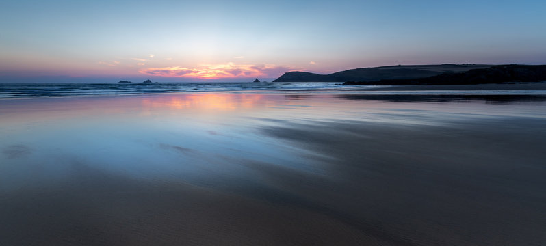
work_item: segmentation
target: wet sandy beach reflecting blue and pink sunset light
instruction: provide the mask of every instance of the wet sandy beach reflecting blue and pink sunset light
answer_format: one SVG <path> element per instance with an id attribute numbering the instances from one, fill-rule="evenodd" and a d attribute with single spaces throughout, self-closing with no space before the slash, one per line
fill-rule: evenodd
<path id="1" fill-rule="evenodd" d="M 541 96 L 0 106 L 0 245 L 546 243 Z"/>

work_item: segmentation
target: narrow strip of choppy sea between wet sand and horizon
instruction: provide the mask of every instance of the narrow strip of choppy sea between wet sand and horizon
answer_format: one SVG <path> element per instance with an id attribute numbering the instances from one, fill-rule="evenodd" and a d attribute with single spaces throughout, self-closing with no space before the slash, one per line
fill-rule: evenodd
<path id="1" fill-rule="evenodd" d="M 341 85 L 340 83 L 153 83 L 151 85 L 116 84 L 0 84 L 0 100 L 18 98 L 64 98 L 96 96 L 138 96 L 152 94 L 257 93 L 257 94 L 534 94 L 546 95 L 546 83 L 510 83 L 482 85 Z"/>

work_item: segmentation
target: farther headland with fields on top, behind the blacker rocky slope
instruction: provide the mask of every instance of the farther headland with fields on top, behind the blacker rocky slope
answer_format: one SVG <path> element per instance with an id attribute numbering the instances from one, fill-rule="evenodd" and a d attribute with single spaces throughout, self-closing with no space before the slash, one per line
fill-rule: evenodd
<path id="1" fill-rule="evenodd" d="M 417 79 L 432 77 L 443 72 L 465 72 L 473 68 L 487 68 L 490 65 L 415 65 L 383 66 L 376 68 L 356 68 L 333 74 L 315 74 L 311 72 L 286 72 L 273 82 L 346 82 L 380 81 L 382 79 Z"/>

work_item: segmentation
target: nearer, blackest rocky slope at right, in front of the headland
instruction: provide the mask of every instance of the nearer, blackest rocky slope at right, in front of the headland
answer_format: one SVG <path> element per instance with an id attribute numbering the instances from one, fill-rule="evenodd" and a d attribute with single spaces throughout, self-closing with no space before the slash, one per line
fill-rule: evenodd
<path id="1" fill-rule="evenodd" d="M 446 72 L 416 79 L 381 79 L 347 82 L 345 85 L 475 85 L 546 81 L 546 65 L 499 65 L 466 72 Z"/>

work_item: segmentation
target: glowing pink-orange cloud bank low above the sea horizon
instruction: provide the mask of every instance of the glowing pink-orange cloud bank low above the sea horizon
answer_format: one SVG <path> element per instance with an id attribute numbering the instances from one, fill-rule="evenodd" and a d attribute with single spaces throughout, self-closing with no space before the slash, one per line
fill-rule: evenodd
<path id="1" fill-rule="evenodd" d="M 237 77 L 278 77 L 279 74 L 287 72 L 291 68 L 275 65 L 252 65 L 252 64 L 205 64 L 197 68 L 184 68 L 171 66 L 165 68 L 144 68 L 142 74 L 164 76 L 164 77 L 189 77 L 198 79 L 222 79 Z"/>

